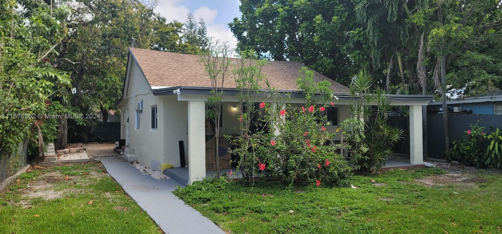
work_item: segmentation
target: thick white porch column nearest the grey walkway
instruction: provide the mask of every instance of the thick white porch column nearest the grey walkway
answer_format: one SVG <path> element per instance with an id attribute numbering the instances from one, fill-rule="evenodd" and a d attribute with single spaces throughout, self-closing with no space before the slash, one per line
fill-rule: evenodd
<path id="1" fill-rule="evenodd" d="M 206 177 L 204 101 L 188 101 L 188 184 Z"/>

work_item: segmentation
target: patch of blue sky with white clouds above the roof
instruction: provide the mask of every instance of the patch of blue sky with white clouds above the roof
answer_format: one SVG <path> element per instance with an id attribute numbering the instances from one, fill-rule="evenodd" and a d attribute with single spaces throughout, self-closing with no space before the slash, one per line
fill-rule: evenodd
<path id="1" fill-rule="evenodd" d="M 235 47 L 237 40 L 228 29 L 234 17 L 240 17 L 238 0 L 159 0 L 156 12 L 168 21 L 185 22 L 186 14 L 194 13 L 195 18 L 204 18 L 210 37 L 227 41 Z"/>

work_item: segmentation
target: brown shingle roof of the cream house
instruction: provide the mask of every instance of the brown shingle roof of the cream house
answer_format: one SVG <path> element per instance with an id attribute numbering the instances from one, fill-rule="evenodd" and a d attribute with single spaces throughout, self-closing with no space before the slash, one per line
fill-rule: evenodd
<path id="1" fill-rule="evenodd" d="M 148 83 L 152 87 L 195 86 L 211 87 L 211 82 L 199 63 L 198 55 L 130 48 L 138 61 Z M 236 59 L 232 59 L 235 61 Z M 269 61 L 262 73 L 267 75 L 272 86 L 279 90 L 297 90 L 298 70 L 304 65 L 297 62 Z M 345 86 L 315 72 L 314 80 L 331 82 L 334 92 L 346 92 Z M 233 75 L 232 75 L 233 76 Z M 265 83 L 265 82 L 264 82 Z M 233 79 L 225 81 L 225 88 L 235 88 Z"/>

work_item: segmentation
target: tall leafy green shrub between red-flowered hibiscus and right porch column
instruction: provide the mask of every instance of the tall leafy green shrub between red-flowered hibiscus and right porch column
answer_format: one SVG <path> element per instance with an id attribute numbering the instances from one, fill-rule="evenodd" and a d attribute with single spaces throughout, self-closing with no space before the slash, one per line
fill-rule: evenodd
<path id="1" fill-rule="evenodd" d="M 393 107 L 387 92 L 370 90 L 372 85 L 373 79 L 365 71 L 356 74 L 348 92 L 353 99 L 348 109 L 354 117 L 340 124 L 345 141 L 340 147 L 350 152 L 351 166 L 359 173 L 383 167 L 403 135 L 403 130 L 387 122 Z"/>

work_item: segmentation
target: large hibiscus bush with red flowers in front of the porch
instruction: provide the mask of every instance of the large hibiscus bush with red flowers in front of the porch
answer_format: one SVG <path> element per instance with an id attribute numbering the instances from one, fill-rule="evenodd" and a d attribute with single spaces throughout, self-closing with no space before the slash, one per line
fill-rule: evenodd
<path id="1" fill-rule="evenodd" d="M 351 168 L 332 143 L 335 133 L 326 130 L 325 108 L 334 105 L 330 83 L 315 83 L 307 68 L 299 73 L 304 103 L 292 105 L 289 95 L 266 81 L 264 93 L 271 101 L 263 101 L 258 109 L 248 106 L 238 116 L 241 135 L 232 138 L 232 152 L 239 156 L 244 178 L 270 176 L 289 184 L 320 186 L 338 184 L 349 175 Z M 259 125 L 254 132 L 247 128 L 252 124 Z"/>

